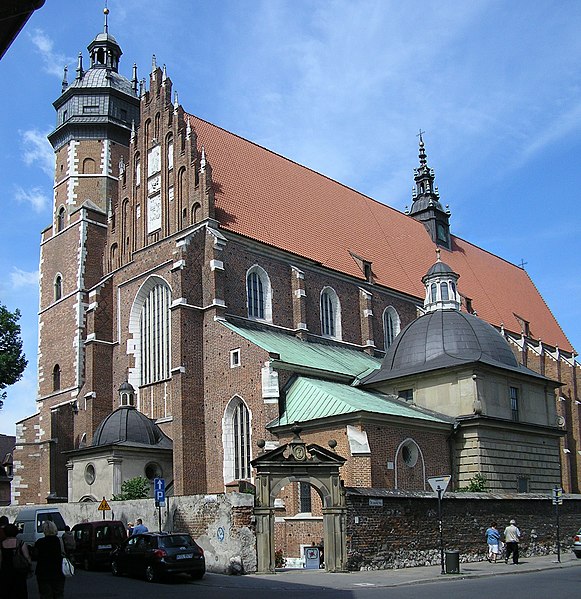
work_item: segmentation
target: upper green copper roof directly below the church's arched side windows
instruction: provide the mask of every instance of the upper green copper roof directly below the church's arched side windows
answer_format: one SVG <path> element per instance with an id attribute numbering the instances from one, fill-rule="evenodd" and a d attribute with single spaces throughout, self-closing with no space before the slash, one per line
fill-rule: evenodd
<path id="1" fill-rule="evenodd" d="M 222 324 L 270 354 L 276 354 L 274 363 L 278 361 L 353 378 L 370 374 L 381 366 L 381 360 L 356 349 L 302 341 L 294 335 L 240 327 L 225 321 Z"/>

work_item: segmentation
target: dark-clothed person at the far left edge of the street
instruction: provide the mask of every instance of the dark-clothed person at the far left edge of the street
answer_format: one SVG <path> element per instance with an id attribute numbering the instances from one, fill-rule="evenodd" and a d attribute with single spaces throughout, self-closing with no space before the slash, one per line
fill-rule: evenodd
<path id="1" fill-rule="evenodd" d="M 32 560 L 26 543 L 16 538 L 18 527 L 4 526 L 5 538 L 0 543 L 0 597 L 2 599 L 28 599 L 26 578 L 32 567 Z M 15 556 L 24 558 L 25 567 L 18 567 Z M 22 561 L 22 560 L 21 560 Z"/>

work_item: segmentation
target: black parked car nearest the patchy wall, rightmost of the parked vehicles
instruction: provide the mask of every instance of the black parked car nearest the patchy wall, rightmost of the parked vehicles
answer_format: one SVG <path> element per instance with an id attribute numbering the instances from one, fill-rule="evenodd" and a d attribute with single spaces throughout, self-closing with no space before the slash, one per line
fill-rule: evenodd
<path id="1" fill-rule="evenodd" d="M 149 582 L 168 574 L 200 579 L 206 572 L 204 550 L 187 533 L 146 532 L 129 537 L 111 554 L 114 576 L 145 576 Z"/>

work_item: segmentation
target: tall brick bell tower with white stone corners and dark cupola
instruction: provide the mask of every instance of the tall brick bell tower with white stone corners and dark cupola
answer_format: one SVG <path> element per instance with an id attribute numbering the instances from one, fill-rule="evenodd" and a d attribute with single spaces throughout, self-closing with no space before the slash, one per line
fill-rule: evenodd
<path id="1" fill-rule="evenodd" d="M 137 69 L 133 67 L 131 80 L 119 73 L 122 51 L 109 33 L 107 8 L 104 13 L 103 31 L 88 46 L 88 68 L 79 53 L 74 80 L 68 82 L 65 68 L 61 95 L 54 102 L 57 122 L 48 137 L 55 152 L 53 219 L 42 232 L 40 251 L 39 422 L 34 439 L 40 487 L 21 489 L 19 503 L 66 501 L 63 452 L 78 445 L 75 418 L 88 401 L 89 290 L 103 277 L 119 164 L 129 155 L 132 126 L 139 121 Z M 106 333 L 103 337 L 109 338 Z M 111 351 L 104 347 L 100 354 L 105 386 Z M 112 388 L 108 395 L 114 396 Z M 23 465 L 33 472 L 28 461 Z"/>

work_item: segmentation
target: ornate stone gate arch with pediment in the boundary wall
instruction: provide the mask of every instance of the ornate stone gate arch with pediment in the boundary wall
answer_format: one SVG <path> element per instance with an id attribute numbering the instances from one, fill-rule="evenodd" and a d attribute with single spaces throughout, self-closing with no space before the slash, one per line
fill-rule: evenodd
<path id="1" fill-rule="evenodd" d="M 343 484 L 339 475 L 345 458 L 331 449 L 300 437 L 301 429 L 293 428 L 294 438 L 271 451 L 263 451 L 252 465 L 256 469 L 256 545 L 259 574 L 274 574 L 274 500 L 282 487 L 304 482 L 317 489 L 323 504 L 325 569 L 327 572 L 347 571 L 346 506 Z M 264 448 L 264 441 L 258 446 Z"/>

